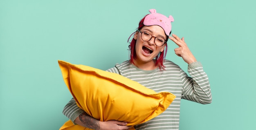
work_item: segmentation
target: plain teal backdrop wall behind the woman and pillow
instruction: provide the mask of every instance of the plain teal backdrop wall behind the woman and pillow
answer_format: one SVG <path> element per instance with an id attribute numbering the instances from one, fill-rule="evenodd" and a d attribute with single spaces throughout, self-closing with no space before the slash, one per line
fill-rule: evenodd
<path id="1" fill-rule="evenodd" d="M 213 102 L 182 100 L 180 130 L 255 129 L 254 0 L 1 0 L 0 130 L 58 130 L 71 99 L 57 60 L 106 70 L 149 9 L 173 15 L 209 76 Z M 168 41 L 166 59 L 187 64 Z"/>

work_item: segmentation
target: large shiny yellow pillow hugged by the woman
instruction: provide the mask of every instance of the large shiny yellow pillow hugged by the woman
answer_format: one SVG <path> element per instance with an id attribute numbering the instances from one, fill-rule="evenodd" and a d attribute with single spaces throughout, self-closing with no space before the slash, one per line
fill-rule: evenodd
<path id="1" fill-rule="evenodd" d="M 118 120 L 134 126 L 161 114 L 175 99 L 172 93 L 156 93 L 116 73 L 61 60 L 58 64 L 76 104 L 99 121 Z M 66 123 L 60 130 L 74 130 L 70 121 Z"/>

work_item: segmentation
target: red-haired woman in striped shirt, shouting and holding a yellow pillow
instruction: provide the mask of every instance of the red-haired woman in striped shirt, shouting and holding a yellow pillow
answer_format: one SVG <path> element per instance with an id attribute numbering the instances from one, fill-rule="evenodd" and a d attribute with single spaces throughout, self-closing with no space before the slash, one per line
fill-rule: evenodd
<path id="1" fill-rule="evenodd" d="M 145 123 L 135 126 L 136 130 L 178 130 L 180 119 L 180 100 L 187 99 L 200 104 L 211 103 L 211 90 L 207 74 L 203 71 L 200 62 L 197 62 L 184 37 L 180 39 L 171 34 L 171 22 L 155 9 L 150 9 L 140 22 L 137 31 L 129 45 L 130 59 L 116 64 L 107 71 L 118 73 L 132 79 L 156 92 L 166 91 L 173 93 L 176 98 L 172 104 L 159 116 Z M 171 39 L 179 47 L 175 54 L 182 57 L 188 64 L 189 77 L 179 66 L 165 60 L 167 41 Z M 98 121 L 81 110 L 74 99 L 65 106 L 63 114 L 75 124 L 95 130 L 126 130 L 126 122 Z"/>

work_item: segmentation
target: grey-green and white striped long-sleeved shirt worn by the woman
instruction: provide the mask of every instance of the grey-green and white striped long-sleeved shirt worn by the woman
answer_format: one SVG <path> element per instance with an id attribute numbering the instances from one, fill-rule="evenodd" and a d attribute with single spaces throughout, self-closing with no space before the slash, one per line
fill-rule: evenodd
<path id="1" fill-rule="evenodd" d="M 203 71 L 200 62 L 189 64 L 189 77 L 178 65 L 165 60 L 165 70 L 159 68 L 144 71 L 127 60 L 108 72 L 118 73 L 132 79 L 147 88 L 158 92 L 173 93 L 176 98 L 171 105 L 160 115 L 145 123 L 135 126 L 136 130 L 178 130 L 180 120 L 180 100 L 186 99 L 200 104 L 211 103 L 211 89 L 207 74 Z M 84 111 L 81 110 L 74 99 L 63 109 L 63 114 L 74 121 Z"/>

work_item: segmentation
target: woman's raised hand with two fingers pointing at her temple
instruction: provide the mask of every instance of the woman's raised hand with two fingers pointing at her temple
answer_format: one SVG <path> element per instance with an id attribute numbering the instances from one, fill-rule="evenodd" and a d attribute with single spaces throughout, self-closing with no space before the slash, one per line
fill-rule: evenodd
<path id="1" fill-rule="evenodd" d="M 188 64 L 196 62 L 194 55 L 191 53 L 189 47 L 186 45 L 186 42 L 184 41 L 184 37 L 180 39 L 175 34 L 173 34 L 172 36 L 173 37 L 169 36 L 169 39 L 171 39 L 175 44 L 179 46 L 178 48 L 174 49 L 175 54 L 179 57 L 182 57 L 182 59 Z"/>

